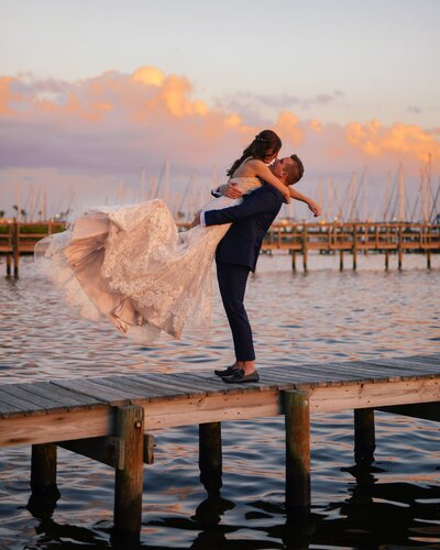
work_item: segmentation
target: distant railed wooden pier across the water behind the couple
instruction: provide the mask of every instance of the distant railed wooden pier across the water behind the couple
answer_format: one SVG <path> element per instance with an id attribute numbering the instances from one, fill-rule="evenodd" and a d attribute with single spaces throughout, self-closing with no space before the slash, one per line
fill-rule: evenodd
<path id="1" fill-rule="evenodd" d="M 177 223 L 182 230 L 189 223 Z M 63 231 L 65 223 L 2 223 L 0 222 L 0 255 L 7 257 L 7 276 L 19 276 L 21 255 L 33 254 L 35 243 L 44 237 Z M 352 267 L 358 267 L 359 254 L 380 253 L 384 256 L 385 270 L 389 256 L 397 256 L 398 268 L 403 268 L 406 253 L 426 255 L 427 267 L 431 267 L 431 255 L 440 253 L 440 226 L 429 223 L 274 223 L 264 242 L 263 252 L 280 250 L 292 255 L 292 268 L 296 270 L 298 254 L 302 268 L 308 270 L 310 252 L 338 254 L 339 267 L 344 268 L 346 254 L 352 256 Z"/>

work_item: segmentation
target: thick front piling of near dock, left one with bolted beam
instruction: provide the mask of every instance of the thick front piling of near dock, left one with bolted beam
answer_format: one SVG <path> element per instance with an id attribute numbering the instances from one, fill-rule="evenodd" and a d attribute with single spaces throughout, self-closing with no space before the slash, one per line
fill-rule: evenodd
<path id="1" fill-rule="evenodd" d="M 116 470 L 114 537 L 136 541 L 141 531 L 144 409 L 117 407 L 117 437 L 123 441 L 123 469 Z"/>

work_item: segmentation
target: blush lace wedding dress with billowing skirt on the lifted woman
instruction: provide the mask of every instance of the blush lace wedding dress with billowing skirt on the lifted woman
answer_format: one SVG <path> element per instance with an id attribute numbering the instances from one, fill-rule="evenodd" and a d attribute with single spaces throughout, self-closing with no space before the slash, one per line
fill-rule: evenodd
<path id="1" fill-rule="evenodd" d="M 234 178 L 243 193 L 261 187 Z M 234 206 L 220 197 L 204 210 Z M 184 327 L 205 328 L 211 317 L 211 264 L 230 224 L 178 232 L 165 202 L 86 210 L 72 229 L 40 241 L 35 257 L 82 317 L 107 318 L 139 343 L 161 331 L 179 339 Z"/>

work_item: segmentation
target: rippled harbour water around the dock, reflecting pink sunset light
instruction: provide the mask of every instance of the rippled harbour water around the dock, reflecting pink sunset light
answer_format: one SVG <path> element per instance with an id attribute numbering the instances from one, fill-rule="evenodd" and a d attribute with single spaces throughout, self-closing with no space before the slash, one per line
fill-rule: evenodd
<path id="1" fill-rule="evenodd" d="M 407 255 L 404 271 L 361 256 L 356 273 L 311 255 L 293 274 L 287 256 L 263 256 L 248 287 L 261 366 L 369 360 L 438 352 L 439 267 Z M 0 273 L 6 271 L 0 264 Z M 142 348 L 107 324 L 66 309 L 21 261 L 18 282 L 0 279 L 1 383 L 143 372 L 196 372 L 231 363 L 231 338 L 215 289 L 212 327 Z M 374 470 L 355 476 L 352 413 L 317 415 L 311 426 L 312 522 L 306 546 L 290 540 L 284 508 L 283 418 L 224 422 L 223 486 L 199 482 L 196 427 L 156 435 L 145 466 L 142 547 L 152 549 L 440 548 L 439 425 L 376 414 Z M 58 452 L 55 508 L 29 503 L 30 449 L 0 451 L 0 548 L 109 548 L 114 474 Z M 298 546 L 299 544 L 299 546 Z"/>

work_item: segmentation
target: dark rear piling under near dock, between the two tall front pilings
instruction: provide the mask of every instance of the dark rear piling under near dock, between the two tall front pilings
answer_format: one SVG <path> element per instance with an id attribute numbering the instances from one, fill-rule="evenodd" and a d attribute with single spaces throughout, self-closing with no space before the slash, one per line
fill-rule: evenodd
<path id="1" fill-rule="evenodd" d="M 199 425 L 199 469 L 200 481 L 205 488 L 220 490 L 222 482 L 221 424 Z"/>

